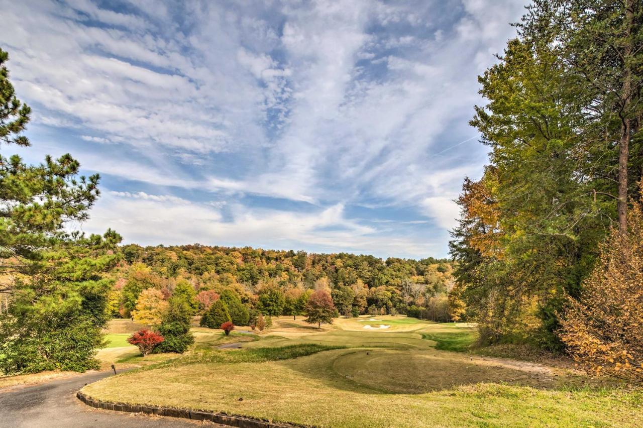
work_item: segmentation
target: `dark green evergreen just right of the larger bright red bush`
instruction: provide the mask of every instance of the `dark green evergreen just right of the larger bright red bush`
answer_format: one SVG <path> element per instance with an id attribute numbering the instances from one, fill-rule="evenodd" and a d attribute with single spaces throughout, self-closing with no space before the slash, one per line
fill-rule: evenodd
<path id="1" fill-rule="evenodd" d="M 170 298 L 158 332 L 165 340 L 154 352 L 183 353 L 194 343 L 194 335 L 190 333 L 190 307 L 183 296 Z"/>

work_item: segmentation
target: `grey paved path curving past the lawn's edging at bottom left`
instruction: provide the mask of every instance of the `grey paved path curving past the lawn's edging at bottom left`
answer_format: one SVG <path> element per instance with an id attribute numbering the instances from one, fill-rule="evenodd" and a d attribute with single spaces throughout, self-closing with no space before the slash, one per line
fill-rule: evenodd
<path id="1" fill-rule="evenodd" d="M 0 389 L 0 428 L 225 426 L 94 409 L 76 398 L 78 389 L 110 374 L 109 371 L 86 373 L 35 386 Z"/>

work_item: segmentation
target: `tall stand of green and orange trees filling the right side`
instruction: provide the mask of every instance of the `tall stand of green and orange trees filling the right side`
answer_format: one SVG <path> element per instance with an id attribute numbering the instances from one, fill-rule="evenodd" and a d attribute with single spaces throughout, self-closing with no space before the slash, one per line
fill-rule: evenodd
<path id="1" fill-rule="evenodd" d="M 475 107 L 471 125 L 490 148 L 489 163 L 481 179 L 464 181 L 450 248 L 454 293 L 482 343 L 577 356 L 594 343 L 595 351 L 638 355 L 629 362 L 640 366 L 640 321 L 631 318 L 643 307 L 642 285 L 631 281 L 640 278 L 638 247 L 627 260 L 613 249 L 640 232 L 642 24 L 640 1 L 535 0 L 515 24 L 518 36 L 479 77 L 487 103 Z M 608 286 L 610 269 L 630 269 L 620 292 Z M 581 334 L 583 322 L 620 325 L 620 342 L 615 332 Z"/>

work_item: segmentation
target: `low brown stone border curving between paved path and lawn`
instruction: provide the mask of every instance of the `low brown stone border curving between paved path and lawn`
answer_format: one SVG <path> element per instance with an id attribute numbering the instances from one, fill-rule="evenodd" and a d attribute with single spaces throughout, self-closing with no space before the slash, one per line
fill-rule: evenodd
<path id="1" fill-rule="evenodd" d="M 222 425 L 230 425 L 239 428 L 293 428 L 304 427 L 305 425 L 275 424 L 257 419 L 245 418 L 244 416 L 226 415 L 225 413 L 213 413 L 207 411 L 195 411 L 189 409 L 174 409 L 172 407 L 135 406 L 134 404 L 110 403 L 95 398 L 87 397 L 78 391 L 78 400 L 87 406 L 97 409 L 114 410 L 127 413 L 147 413 L 148 415 L 170 416 L 172 418 L 185 418 L 192 420 L 207 420 Z"/>

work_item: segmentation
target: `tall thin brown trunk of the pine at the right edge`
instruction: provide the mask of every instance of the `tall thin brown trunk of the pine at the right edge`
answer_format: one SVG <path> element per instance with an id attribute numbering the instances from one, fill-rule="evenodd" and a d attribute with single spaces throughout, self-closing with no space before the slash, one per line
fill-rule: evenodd
<path id="1" fill-rule="evenodd" d="M 617 210 L 619 211 L 619 230 L 622 233 L 628 231 L 628 160 L 629 160 L 629 132 L 631 119 L 629 118 L 629 103 L 631 102 L 631 69 L 628 59 L 632 54 L 631 28 L 634 19 L 634 0 L 628 0 L 626 15 L 625 36 L 628 39 L 626 43 L 624 58 L 623 87 L 620 95 L 620 141 L 619 141 L 619 202 Z"/>

